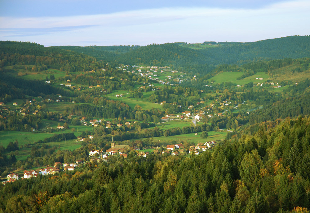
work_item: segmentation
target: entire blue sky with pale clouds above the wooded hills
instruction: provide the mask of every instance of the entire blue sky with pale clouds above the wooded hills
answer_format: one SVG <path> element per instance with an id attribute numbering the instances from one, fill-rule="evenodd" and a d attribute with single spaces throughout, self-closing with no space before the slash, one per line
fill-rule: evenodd
<path id="1" fill-rule="evenodd" d="M 309 0 L 0 0 L 0 40 L 44 46 L 260 41 L 310 35 Z"/>

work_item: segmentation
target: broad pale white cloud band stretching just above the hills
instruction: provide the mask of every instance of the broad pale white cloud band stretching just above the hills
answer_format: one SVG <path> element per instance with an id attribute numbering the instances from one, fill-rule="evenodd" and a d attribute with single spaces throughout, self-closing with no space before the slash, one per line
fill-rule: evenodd
<path id="1" fill-rule="evenodd" d="M 0 17 L 0 39 L 43 45 L 122 45 L 257 41 L 308 35 L 310 2 L 275 3 L 259 9 L 175 7 L 65 17 Z M 20 39 L 19 39 L 20 37 Z M 28 39 L 28 40 L 27 40 Z"/>

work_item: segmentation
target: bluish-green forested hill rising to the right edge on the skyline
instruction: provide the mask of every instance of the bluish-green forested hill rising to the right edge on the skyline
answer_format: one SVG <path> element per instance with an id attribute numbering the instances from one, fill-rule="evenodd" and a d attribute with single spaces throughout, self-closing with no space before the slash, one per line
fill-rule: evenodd
<path id="1" fill-rule="evenodd" d="M 205 42 L 206 44 L 208 42 Z M 200 50 L 206 58 L 213 59 L 206 63 L 243 64 L 259 60 L 303 58 L 310 53 L 310 36 L 288 36 L 256 42 L 218 42 L 219 47 Z"/>

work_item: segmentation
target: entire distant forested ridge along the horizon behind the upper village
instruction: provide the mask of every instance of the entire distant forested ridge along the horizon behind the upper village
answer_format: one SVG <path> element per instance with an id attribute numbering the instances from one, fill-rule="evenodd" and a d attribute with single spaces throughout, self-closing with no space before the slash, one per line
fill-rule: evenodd
<path id="1" fill-rule="evenodd" d="M 210 45 L 212 46 L 211 48 Z M 148 46 L 61 46 L 61 49 L 89 54 L 131 65 L 183 67 L 206 73 L 220 64 L 244 64 L 261 60 L 303 58 L 310 55 L 310 36 L 289 36 L 255 42 L 208 42 L 199 49 L 187 43 L 151 44 Z"/>

